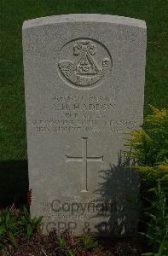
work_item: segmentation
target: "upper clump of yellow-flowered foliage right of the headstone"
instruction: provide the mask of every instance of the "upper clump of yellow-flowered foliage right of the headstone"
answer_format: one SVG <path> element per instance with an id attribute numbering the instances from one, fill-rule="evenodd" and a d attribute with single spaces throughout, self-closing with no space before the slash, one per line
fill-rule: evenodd
<path id="1" fill-rule="evenodd" d="M 128 154 L 142 166 L 154 166 L 168 157 L 168 110 L 151 108 L 153 114 L 144 119 L 143 129 L 131 131 L 125 143 L 132 150 Z"/>

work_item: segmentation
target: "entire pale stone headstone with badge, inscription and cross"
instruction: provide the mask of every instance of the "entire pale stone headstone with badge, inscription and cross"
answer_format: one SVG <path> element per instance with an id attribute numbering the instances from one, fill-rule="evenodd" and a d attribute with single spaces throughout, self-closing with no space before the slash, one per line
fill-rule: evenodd
<path id="1" fill-rule="evenodd" d="M 31 213 L 43 232 L 130 236 L 139 178 L 125 132 L 143 119 L 146 25 L 112 15 L 23 24 Z"/>

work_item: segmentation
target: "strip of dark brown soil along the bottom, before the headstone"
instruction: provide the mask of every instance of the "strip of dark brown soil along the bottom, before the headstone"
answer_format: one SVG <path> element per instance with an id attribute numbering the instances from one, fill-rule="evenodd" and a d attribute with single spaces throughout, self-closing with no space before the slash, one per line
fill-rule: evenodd
<path id="1" fill-rule="evenodd" d="M 56 239 L 55 232 L 50 232 L 48 236 L 35 234 L 31 239 L 22 243 L 20 248 L 3 248 L 3 252 L 8 252 L 10 256 L 137 256 L 142 253 L 142 242 L 138 238 L 119 239 L 99 239 L 98 246 L 91 250 L 86 250 L 80 244 L 81 238 L 69 236 L 66 247 L 60 247 Z M 68 253 L 73 252 L 73 254 Z M 0 256 L 3 254 L 0 253 Z"/>

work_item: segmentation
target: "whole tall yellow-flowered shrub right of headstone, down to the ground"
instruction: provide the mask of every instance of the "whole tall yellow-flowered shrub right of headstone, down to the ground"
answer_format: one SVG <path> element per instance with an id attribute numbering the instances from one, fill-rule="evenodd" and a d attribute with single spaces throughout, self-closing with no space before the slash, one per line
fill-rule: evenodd
<path id="1" fill-rule="evenodd" d="M 142 213 L 146 222 L 149 244 L 154 253 L 168 252 L 168 110 L 152 107 L 153 113 L 144 119 L 141 130 L 130 131 L 126 140 L 125 156 L 136 160 L 136 169 L 142 177 Z M 145 206 L 145 207 L 144 207 Z"/>

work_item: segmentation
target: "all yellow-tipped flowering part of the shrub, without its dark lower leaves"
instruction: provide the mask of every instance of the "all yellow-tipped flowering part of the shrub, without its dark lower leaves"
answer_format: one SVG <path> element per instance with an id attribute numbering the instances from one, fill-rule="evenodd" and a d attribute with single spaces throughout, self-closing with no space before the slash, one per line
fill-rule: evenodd
<path id="1" fill-rule="evenodd" d="M 168 181 L 168 110 L 152 107 L 153 114 L 144 119 L 142 130 L 130 132 L 126 139 L 125 156 L 137 160 L 133 168 L 142 173 L 142 178 L 156 186 L 158 181 Z"/>

